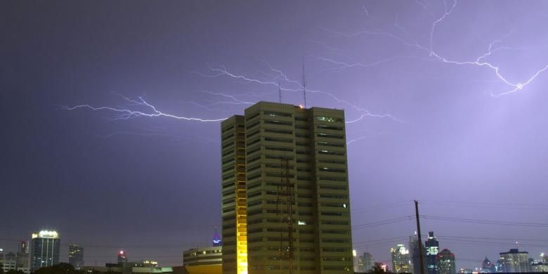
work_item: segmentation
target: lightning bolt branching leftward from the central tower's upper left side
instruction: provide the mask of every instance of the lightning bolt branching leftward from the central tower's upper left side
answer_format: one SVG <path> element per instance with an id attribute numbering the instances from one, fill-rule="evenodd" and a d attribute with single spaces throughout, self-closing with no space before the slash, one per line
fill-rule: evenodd
<path id="1" fill-rule="evenodd" d="M 117 117 L 115 117 L 115 120 L 131 119 L 136 117 L 168 117 L 168 118 L 174 118 L 174 119 L 185 120 L 185 121 L 193 121 L 193 122 L 221 122 L 224 119 L 226 119 L 226 118 L 202 119 L 202 118 L 195 118 L 195 117 L 184 117 L 184 116 L 172 115 L 172 114 L 158 110 L 157 107 L 148 103 L 141 96 L 136 99 L 127 98 L 126 96 L 122 96 L 122 95 L 119 95 L 119 96 L 121 96 L 127 103 L 129 103 L 127 107 L 93 107 L 92 105 L 84 104 L 84 105 L 74 105 L 72 107 L 63 106 L 63 109 L 77 110 L 79 108 L 86 108 L 93 111 L 105 110 L 105 111 L 115 112 L 118 114 Z M 136 108 L 138 107 L 141 107 L 144 110 L 137 110 Z M 145 110 L 148 110 L 148 112 Z"/>

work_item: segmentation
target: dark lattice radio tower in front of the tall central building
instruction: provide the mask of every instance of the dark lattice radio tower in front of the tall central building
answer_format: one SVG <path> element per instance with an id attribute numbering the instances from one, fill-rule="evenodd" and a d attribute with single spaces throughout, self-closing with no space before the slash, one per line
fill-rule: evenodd
<path id="1" fill-rule="evenodd" d="M 281 181 L 278 186 L 278 200 L 276 201 L 276 207 L 278 214 L 280 214 L 282 229 L 280 229 L 280 271 L 283 270 L 282 261 L 287 260 L 289 263 L 289 274 L 293 273 L 293 202 L 294 202 L 294 184 L 289 181 L 289 160 L 282 158 L 281 168 Z M 282 206 L 285 204 L 284 212 Z M 283 226 L 287 226 L 286 233 L 284 233 Z M 287 234 L 285 237 L 284 234 Z M 287 242 L 287 247 L 284 246 L 284 242 Z"/>

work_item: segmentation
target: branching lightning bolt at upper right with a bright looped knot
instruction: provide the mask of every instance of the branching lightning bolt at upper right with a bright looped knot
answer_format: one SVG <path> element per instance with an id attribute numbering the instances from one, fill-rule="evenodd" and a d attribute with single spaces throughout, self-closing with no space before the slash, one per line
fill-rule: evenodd
<path id="1" fill-rule="evenodd" d="M 415 2 L 426 9 L 426 5 L 424 3 L 419 2 L 419 1 L 415 1 Z M 434 34 L 436 32 L 436 27 L 438 25 L 440 25 L 443 22 L 443 20 L 445 20 L 445 18 L 448 18 L 448 16 L 450 16 L 453 13 L 453 11 L 455 11 L 455 7 L 457 6 L 457 0 L 453 1 L 452 5 L 450 7 L 448 7 L 447 2 L 445 0 L 443 1 L 443 4 L 444 4 L 444 7 L 445 7 L 445 11 L 444 11 L 443 15 L 439 16 L 436 20 L 433 20 L 433 22 L 431 24 L 431 28 L 430 28 L 430 32 L 429 32 L 429 47 L 422 46 L 417 42 L 407 41 L 407 40 L 403 39 L 402 37 L 399 37 L 396 34 L 392 34 L 390 32 L 384 32 L 384 31 L 381 31 L 381 30 L 365 30 L 365 31 L 351 33 L 351 34 L 344 33 L 344 32 L 338 32 L 336 30 L 330 30 L 330 29 L 327 29 L 327 28 L 324 28 L 324 30 L 326 30 L 328 32 L 332 32 L 334 34 L 339 34 L 341 36 L 348 37 L 348 38 L 357 37 L 359 35 L 384 35 L 386 37 L 391 37 L 392 39 L 395 39 L 396 41 L 399 41 L 401 44 L 404 44 L 405 46 L 410 46 L 410 47 L 413 47 L 413 48 L 417 48 L 419 51 L 424 51 L 427 54 L 427 56 L 429 56 L 429 58 L 432 58 L 433 60 L 441 61 L 442 63 L 448 63 L 448 64 L 452 64 L 452 65 L 474 65 L 474 66 L 478 66 L 478 67 L 488 67 L 490 70 L 492 70 L 492 72 L 494 72 L 495 76 L 497 77 L 497 79 L 500 82 L 502 82 L 502 83 L 506 84 L 507 86 L 509 86 L 509 89 L 507 91 L 502 91 L 500 93 L 492 93 L 491 92 L 490 95 L 493 96 L 493 97 L 504 96 L 504 95 L 508 95 L 510 93 L 516 93 L 517 91 L 521 91 L 528 84 L 533 82 L 533 80 L 535 80 L 542 72 L 544 72 L 545 70 L 548 70 L 548 64 L 547 64 L 547 65 L 544 65 L 544 67 L 541 67 L 536 72 L 534 72 L 525 81 L 519 81 L 519 82 L 510 81 L 507 77 L 505 77 L 500 72 L 500 67 L 498 67 L 497 65 L 494 65 L 494 64 L 488 62 L 487 60 L 485 60 L 485 58 L 488 58 L 489 56 L 491 56 L 491 54 L 494 53 L 495 51 L 501 51 L 501 50 L 504 50 L 504 49 L 513 49 L 513 48 L 509 48 L 509 47 L 504 47 L 504 46 L 493 48 L 493 45 L 495 43 L 500 42 L 500 39 L 492 41 L 488 46 L 488 50 L 485 53 L 483 53 L 481 56 L 478 56 L 476 58 L 476 60 L 464 60 L 464 61 L 463 60 L 452 60 L 450 58 L 446 58 L 444 56 L 441 56 L 441 54 L 437 53 L 434 50 L 434 43 L 433 43 Z M 329 58 L 320 58 L 320 60 L 339 65 L 337 70 L 342 70 L 342 69 L 351 68 L 351 67 L 370 67 L 370 66 L 373 66 L 373 65 L 379 65 L 381 63 L 386 63 L 386 62 L 401 59 L 401 58 L 417 58 L 417 57 L 396 56 L 396 57 L 388 58 L 388 59 L 385 59 L 385 60 L 379 60 L 377 62 L 369 63 L 369 64 L 344 63 L 344 62 L 338 62 L 338 61 L 330 60 Z M 426 60 L 429 60 L 429 59 L 426 59 Z"/>

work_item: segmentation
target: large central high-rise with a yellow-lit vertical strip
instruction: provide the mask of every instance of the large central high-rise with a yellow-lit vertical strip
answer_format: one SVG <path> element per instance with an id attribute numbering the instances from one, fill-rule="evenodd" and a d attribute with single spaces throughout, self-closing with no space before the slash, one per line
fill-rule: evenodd
<path id="1" fill-rule="evenodd" d="M 221 136 L 223 273 L 353 272 L 344 111 L 260 102 Z"/>

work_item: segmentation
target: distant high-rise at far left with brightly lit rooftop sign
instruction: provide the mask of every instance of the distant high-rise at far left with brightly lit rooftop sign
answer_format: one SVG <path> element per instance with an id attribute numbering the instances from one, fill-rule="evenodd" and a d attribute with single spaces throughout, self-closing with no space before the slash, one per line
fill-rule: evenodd
<path id="1" fill-rule="evenodd" d="M 32 233 L 30 268 L 32 271 L 59 263 L 60 238 L 56 231 Z"/>

